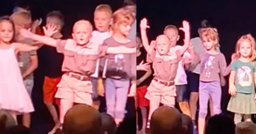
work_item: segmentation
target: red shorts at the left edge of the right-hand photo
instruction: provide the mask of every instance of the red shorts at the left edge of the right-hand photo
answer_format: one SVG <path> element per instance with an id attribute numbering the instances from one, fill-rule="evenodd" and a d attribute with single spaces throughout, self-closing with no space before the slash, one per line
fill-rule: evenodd
<path id="1" fill-rule="evenodd" d="M 149 100 L 145 98 L 148 86 L 141 86 L 137 88 L 136 103 L 137 107 L 145 107 L 149 105 Z"/>

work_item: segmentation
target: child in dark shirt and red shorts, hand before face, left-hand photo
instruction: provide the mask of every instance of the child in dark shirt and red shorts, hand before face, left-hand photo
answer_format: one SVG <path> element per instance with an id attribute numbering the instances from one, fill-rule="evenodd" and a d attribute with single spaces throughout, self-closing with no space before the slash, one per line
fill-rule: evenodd
<path id="1" fill-rule="evenodd" d="M 64 26 L 64 16 L 60 11 L 51 11 L 47 14 L 46 18 L 46 29 L 56 29 L 56 33 L 47 33 L 45 32 L 45 36 L 52 37 L 54 39 L 61 39 L 61 29 Z M 50 35 L 48 35 L 50 34 Z M 52 115 L 52 119 L 55 123 L 55 127 L 48 133 L 54 134 L 55 131 L 60 127 L 60 123 L 58 120 L 57 110 L 54 104 L 54 96 L 57 91 L 57 85 L 61 81 L 61 65 L 63 62 L 63 54 L 60 54 L 56 51 L 56 49 L 52 46 L 43 46 L 40 51 L 42 66 L 44 69 L 44 104 L 47 106 L 50 114 Z"/>

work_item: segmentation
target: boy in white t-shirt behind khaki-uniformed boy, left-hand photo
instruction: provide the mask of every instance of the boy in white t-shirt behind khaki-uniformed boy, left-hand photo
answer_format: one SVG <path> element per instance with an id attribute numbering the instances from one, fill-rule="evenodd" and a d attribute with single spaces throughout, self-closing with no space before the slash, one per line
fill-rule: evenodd
<path id="1" fill-rule="evenodd" d="M 94 47 L 99 47 L 102 45 L 103 41 L 111 36 L 110 26 L 111 26 L 111 17 L 112 17 L 112 9 L 109 5 L 99 5 L 96 7 L 94 11 L 94 25 L 96 30 L 92 32 L 91 41 Z M 91 81 L 93 85 L 93 107 L 99 109 L 100 100 L 98 95 L 98 80 L 101 80 L 102 76 L 99 76 L 99 62 L 100 59 L 97 60 L 96 69 L 94 74 L 91 75 Z M 101 74 L 101 73 L 100 73 Z M 103 87 L 103 86 L 102 86 Z"/>

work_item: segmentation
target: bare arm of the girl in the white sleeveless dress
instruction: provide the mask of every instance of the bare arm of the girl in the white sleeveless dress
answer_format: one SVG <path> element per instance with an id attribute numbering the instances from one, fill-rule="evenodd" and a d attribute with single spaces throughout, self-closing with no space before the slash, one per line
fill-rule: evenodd
<path id="1" fill-rule="evenodd" d="M 17 51 L 33 51 L 39 49 L 43 45 L 28 45 L 24 43 L 12 43 Z"/>

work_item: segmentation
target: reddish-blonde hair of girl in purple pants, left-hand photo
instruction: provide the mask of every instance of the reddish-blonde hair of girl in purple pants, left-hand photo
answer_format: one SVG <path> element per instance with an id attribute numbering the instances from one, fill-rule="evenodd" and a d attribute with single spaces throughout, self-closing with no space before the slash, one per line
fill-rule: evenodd
<path id="1" fill-rule="evenodd" d="M 132 25 L 134 23 L 134 18 L 132 17 L 131 12 L 125 9 L 118 9 L 113 13 L 113 32 L 118 30 L 120 24 L 125 23 L 127 25 Z"/>

